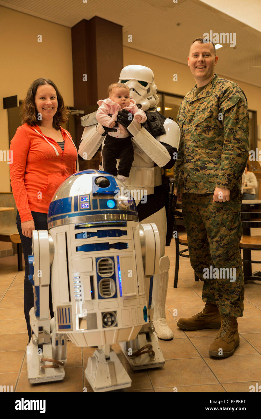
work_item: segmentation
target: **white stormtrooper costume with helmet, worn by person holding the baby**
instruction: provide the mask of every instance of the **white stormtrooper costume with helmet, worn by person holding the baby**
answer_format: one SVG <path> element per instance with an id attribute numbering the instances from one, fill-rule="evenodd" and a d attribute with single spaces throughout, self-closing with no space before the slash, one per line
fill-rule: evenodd
<path id="1" fill-rule="evenodd" d="M 129 120 L 129 112 L 122 110 L 118 114 L 117 121 L 131 134 L 134 147 L 134 161 L 124 185 L 129 191 L 140 191 L 138 199 L 135 199 L 139 222 L 155 223 L 160 233 L 159 274 L 150 279 L 148 301 L 151 309 L 150 318 L 153 316 L 153 326 L 158 338 L 171 340 L 173 333 L 165 319 L 169 259 L 168 256 L 164 256 L 167 220 L 162 168 L 171 168 L 175 163 L 174 155 L 178 150 L 180 130 L 176 122 L 160 115 L 156 109 L 159 98 L 154 74 L 150 68 L 128 65 L 121 70 L 119 82 L 129 87 L 130 97 L 136 101 L 138 108 L 145 111 L 147 116 L 147 121 L 141 125 L 136 119 Z M 95 115 L 94 112 L 81 118 L 85 129 L 78 153 L 87 160 L 90 160 L 98 151 L 104 140 L 104 134 L 108 130 L 101 124 L 97 124 Z"/>

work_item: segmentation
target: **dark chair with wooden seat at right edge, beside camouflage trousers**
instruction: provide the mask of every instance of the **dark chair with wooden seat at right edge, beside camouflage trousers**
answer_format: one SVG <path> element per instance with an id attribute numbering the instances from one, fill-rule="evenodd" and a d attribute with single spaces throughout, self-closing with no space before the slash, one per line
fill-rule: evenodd
<path id="1" fill-rule="evenodd" d="M 242 201 L 241 221 L 243 227 L 242 238 L 239 243 L 240 251 L 243 251 L 243 274 L 244 280 L 261 281 L 261 272 L 252 274 L 252 264 L 260 264 L 260 261 L 252 261 L 251 251 L 261 251 L 261 235 L 251 235 L 251 228 L 261 228 L 261 201 Z"/>

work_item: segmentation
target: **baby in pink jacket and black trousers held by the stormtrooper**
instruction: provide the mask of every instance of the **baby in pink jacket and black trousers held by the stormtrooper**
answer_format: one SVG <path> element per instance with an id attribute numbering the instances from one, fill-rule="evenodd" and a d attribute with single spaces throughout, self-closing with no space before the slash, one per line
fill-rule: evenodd
<path id="1" fill-rule="evenodd" d="M 138 122 L 146 121 L 145 112 L 138 109 L 136 102 L 129 97 L 129 88 L 124 83 L 113 83 L 108 88 L 109 98 L 98 101 L 99 109 L 96 119 L 104 127 L 113 128 L 116 124 L 118 112 L 127 109 L 134 115 Z M 111 173 L 124 182 L 129 177 L 129 172 L 134 160 L 132 140 L 129 132 L 121 124 L 115 131 L 109 131 L 105 137 L 102 149 L 103 170 Z M 118 174 L 116 159 L 120 159 Z"/>

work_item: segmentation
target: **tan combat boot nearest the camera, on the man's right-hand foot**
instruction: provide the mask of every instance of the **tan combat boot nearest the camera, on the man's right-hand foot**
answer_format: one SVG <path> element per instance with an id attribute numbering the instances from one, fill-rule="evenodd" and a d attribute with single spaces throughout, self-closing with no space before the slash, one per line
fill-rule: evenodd
<path id="1" fill-rule="evenodd" d="M 238 322 L 236 317 L 225 314 L 222 316 L 220 331 L 209 347 L 212 357 L 226 358 L 233 355 L 239 345 Z"/>

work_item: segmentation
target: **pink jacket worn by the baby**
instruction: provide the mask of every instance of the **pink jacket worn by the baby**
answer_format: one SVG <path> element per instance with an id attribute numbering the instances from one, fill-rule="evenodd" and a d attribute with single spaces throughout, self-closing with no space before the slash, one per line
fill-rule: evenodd
<path id="1" fill-rule="evenodd" d="M 97 103 L 99 105 L 99 109 L 96 113 L 96 119 L 104 127 L 110 127 L 111 122 L 116 121 L 118 112 L 122 109 L 127 109 L 127 111 L 130 111 L 133 115 L 140 115 L 142 117 L 141 124 L 147 119 L 145 112 L 137 107 L 136 102 L 132 98 L 129 106 L 125 106 L 125 108 L 122 109 L 119 103 L 113 102 L 110 98 L 100 100 Z M 109 114 L 112 114 L 112 117 L 109 116 Z M 119 132 L 126 134 L 127 129 L 119 124 Z"/>

